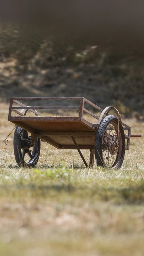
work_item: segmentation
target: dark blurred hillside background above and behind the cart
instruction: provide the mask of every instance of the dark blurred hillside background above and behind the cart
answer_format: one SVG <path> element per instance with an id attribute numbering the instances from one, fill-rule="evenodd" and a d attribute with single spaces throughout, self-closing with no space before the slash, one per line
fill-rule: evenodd
<path id="1" fill-rule="evenodd" d="M 4 0 L 0 101 L 85 97 L 144 119 L 144 2 Z"/>

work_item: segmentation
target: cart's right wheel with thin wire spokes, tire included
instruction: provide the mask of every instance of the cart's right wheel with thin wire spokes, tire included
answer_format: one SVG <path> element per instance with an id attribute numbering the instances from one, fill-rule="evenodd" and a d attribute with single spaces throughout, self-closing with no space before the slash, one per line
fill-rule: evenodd
<path id="1" fill-rule="evenodd" d="M 98 166 L 118 170 L 125 156 L 125 134 L 119 122 L 119 145 L 117 145 L 118 119 L 116 116 L 106 116 L 95 135 L 95 158 Z"/>

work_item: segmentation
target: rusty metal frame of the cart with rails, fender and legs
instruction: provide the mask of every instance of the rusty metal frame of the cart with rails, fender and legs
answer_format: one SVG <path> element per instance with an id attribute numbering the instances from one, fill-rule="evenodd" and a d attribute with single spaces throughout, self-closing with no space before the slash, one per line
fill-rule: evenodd
<path id="1" fill-rule="evenodd" d="M 63 106 L 59 106 L 59 107 L 39 107 L 39 106 L 26 106 L 24 104 L 22 104 L 21 102 L 19 102 L 19 100 L 25 100 L 25 101 L 29 101 L 29 100 L 34 100 L 34 101 L 39 101 L 39 100 L 43 100 L 43 101 L 80 101 L 80 104 L 78 107 L 63 107 Z M 18 104 L 19 106 L 17 107 L 13 107 L 13 102 Z M 89 110 L 87 110 L 84 105 L 85 102 L 90 104 L 92 107 L 94 107 L 96 110 L 101 112 L 100 117 L 96 116 L 95 114 L 91 113 Z M 47 110 L 51 110 L 51 109 L 65 109 L 65 110 L 79 110 L 79 116 L 78 117 L 67 117 L 67 116 L 42 116 L 41 113 L 38 113 L 37 110 L 38 109 L 47 109 Z M 92 103 L 91 101 L 83 98 L 83 97 L 73 97 L 73 98 L 26 98 L 26 97 L 13 97 L 10 98 L 10 107 L 9 107 L 9 114 L 8 114 L 8 120 L 10 122 L 13 122 L 14 124 L 16 124 L 17 121 L 19 121 L 19 126 L 21 126 L 23 129 L 29 131 L 31 134 L 33 134 L 34 136 L 39 137 L 40 139 L 42 139 L 43 141 L 46 141 L 47 143 L 49 143 L 52 146 L 55 146 L 57 149 L 77 149 L 79 154 L 82 157 L 82 160 L 84 161 L 85 165 L 88 166 L 88 164 L 86 163 L 86 161 L 84 160 L 82 153 L 80 152 L 80 149 L 90 149 L 90 163 L 89 163 L 89 167 L 93 167 L 93 161 L 94 161 L 94 145 L 77 145 L 75 139 L 73 136 L 75 135 L 82 135 L 82 136 L 91 136 L 91 135 L 95 135 L 97 128 L 99 127 L 101 120 L 104 118 L 104 115 L 109 115 L 110 110 L 114 110 L 116 115 L 118 116 L 118 121 L 120 121 L 122 123 L 122 125 L 124 126 L 123 129 L 124 130 L 128 130 L 128 134 L 125 134 L 125 139 L 127 140 L 127 143 L 125 145 L 125 149 L 128 150 L 129 149 L 129 145 L 130 145 L 130 138 L 131 137 L 140 137 L 140 135 L 131 135 L 131 127 L 129 127 L 128 125 L 126 125 L 125 123 L 122 122 L 121 117 L 119 115 L 119 111 L 115 108 L 115 107 L 106 107 L 104 110 L 101 109 L 100 107 L 98 107 L 97 105 L 95 105 L 94 103 Z M 19 110 L 19 111 L 18 111 Z M 23 114 L 23 111 L 25 110 L 25 113 Z M 35 116 L 26 116 L 27 111 L 31 111 L 32 113 L 35 114 Z M 12 111 L 17 113 L 19 116 L 11 116 Z M 91 115 L 92 117 L 94 117 L 96 120 L 98 120 L 96 123 L 91 123 L 88 122 L 87 120 L 85 120 L 83 118 L 83 113 L 88 113 L 89 115 Z M 68 132 L 68 131 L 35 131 L 34 129 L 32 129 L 31 127 L 29 127 L 28 125 L 26 125 L 25 123 L 23 123 L 23 121 L 79 121 L 84 123 L 88 128 L 91 129 L 91 131 L 89 132 L 77 132 L 77 131 L 72 131 L 72 132 Z M 118 131 L 119 131 L 119 122 L 118 122 Z M 52 139 L 50 139 L 49 135 L 70 135 L 74 145 L 60 145 L 56 142 L 54 142 Z"/>

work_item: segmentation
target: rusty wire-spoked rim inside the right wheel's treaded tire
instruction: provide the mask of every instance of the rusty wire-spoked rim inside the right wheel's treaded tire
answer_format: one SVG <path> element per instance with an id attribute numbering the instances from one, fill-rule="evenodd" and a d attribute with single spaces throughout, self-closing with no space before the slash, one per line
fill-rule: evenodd
<path id="1" fill-rule="evenodd" d="M 117 134 L 118 125 L 116 123 L 109 123 L 105 128 L 102 142 L 103 159 L 101 160 L 105 167 L 113 169 L 119 164 L 122 154 L 122 137 L 120 131 L 118 149 L 116 148 Z"/>

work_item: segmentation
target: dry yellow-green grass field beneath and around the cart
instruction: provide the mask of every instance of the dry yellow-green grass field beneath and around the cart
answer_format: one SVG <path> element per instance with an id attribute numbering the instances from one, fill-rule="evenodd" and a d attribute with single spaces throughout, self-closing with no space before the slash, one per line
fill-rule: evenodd
<path id="1" fill-rule="evenodd" d="M 13 129 L 0 104 L 0 141 Z M 41 143 L 37 168 L 16 165 L 13 133 L 0 147 L 0 255 L 144 255 L 144 122 L 120 170 L 85 168 L 76 150 Z M 88 150 L 83 151 L 88 161 Z"/>

